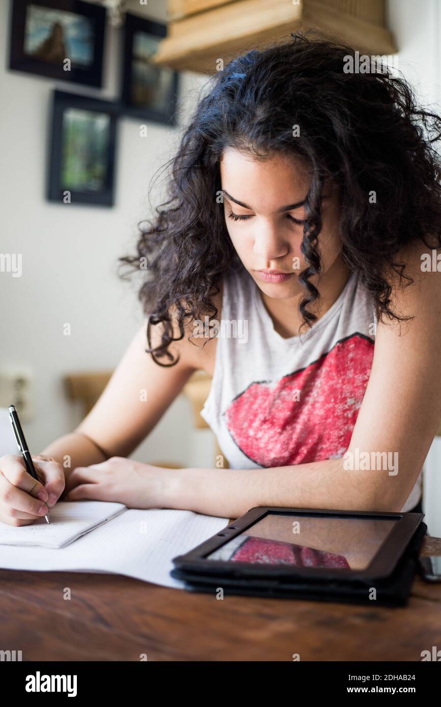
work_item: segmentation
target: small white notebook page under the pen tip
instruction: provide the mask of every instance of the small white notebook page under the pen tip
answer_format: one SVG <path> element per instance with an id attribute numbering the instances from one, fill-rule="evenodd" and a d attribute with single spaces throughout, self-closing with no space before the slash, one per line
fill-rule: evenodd
<path id="1" fill-rule="evenodd" d="M 59 501 L 45 517 L 16 527 L 0 522 L 0 545 L 33 545 L 59 549 L 122 513 L 124 503 Z"/>

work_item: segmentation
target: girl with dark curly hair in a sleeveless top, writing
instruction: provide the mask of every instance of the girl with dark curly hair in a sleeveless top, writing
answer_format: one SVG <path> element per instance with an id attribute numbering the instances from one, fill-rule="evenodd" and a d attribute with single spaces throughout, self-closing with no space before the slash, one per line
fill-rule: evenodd
<path id="1" fill-rule="evenodd" d="M 0 459 L 1 521 L 58 498 L 227 518 L 420 508 L 441 419 L 441 120 L 382 67 L 347 71 L 351 53 L 292 35 L 212 78 L 170 198 L 121 259 L 146 275 L 142 327 L 92 411 L 34 457 L 41 484 Z M 200 369 L 230 468 L 127 459 Z"/>

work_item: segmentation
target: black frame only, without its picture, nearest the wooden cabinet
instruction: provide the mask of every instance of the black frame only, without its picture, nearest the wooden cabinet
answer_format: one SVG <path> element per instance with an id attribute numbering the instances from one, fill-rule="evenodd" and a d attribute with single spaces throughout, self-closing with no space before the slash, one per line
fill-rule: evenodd
<path id="1" fill-rule="evenodd" d="M 153 20 L 126 13 L 125 15 L 125 31 L 123 41 L 123 65 L 122 65 L 122 86 L 121 86 L 121 113 L 134 118 L 150 120 L 168 126 L 175 126 L 177 122 L 176 108 L 178 101 L 179 74 L 174 69 L 167 67 L 152 65 L 149 71 L 159 78 L 159 81 L 164 81 L 163 94 L 160 97 L 156 96 L 155 100 L 142 103 L 140 100 L 134 100 L 134 65 L 133 53 L 136 42 L 136 35 L 147 35 L 146 41 L 149 39 L 152 42 L 159 42 L 166 37 L 167 25 Z M 145 61 L 142 59 L 142 61 Z M 148 62 L 146 62 L 148 63 Z M 139 69 L 142 71 L 142 69 Z M 139 89 L 142 90 L 142 87 Z M 155 98 L 153 96 L 153 98 Z"/>

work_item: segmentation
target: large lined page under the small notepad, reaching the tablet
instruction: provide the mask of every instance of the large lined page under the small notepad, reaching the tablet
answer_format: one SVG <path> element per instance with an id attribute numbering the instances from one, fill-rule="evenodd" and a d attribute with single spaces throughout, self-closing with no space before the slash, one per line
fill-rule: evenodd
<path id="1" fill-rule="evenodd" d="M 164 587 L 183 588 L 181 580 L 170 576 L 173 557 L 185 554 L 212 537 L 228 522 L 228 518 L 191 510 L 128 508 L 93 532 L 57 550 L 0 544 L 0 567 L 40 572 L 110 572 Z"/>

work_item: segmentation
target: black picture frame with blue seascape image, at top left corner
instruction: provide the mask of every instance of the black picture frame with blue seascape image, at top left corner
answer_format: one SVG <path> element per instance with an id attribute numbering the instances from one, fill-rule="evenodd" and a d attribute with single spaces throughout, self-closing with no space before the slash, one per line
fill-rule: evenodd
<path id="1" fill-rule="evenodd" d="M 30 6 L 33 6 L 33 8 L 30 8 Z M 63 63 L 58 63 L 59 58 L 50 61 L 48 59 L 38 58 L 25 51 L 25 42 L 28 36 L 26 35 L 26 24 L 29 23 L 31 27 L 33 27 L 33 23 L 35 24 L 35 29 L 33 30 L 33 34 L 35 35 L 34 41 L 39 34 L 38 8 L 42 8 L 42 11 L 58 12 L 61 21 L 63 20 L 64 13 L 64 23 L 67 23 L 68 20 L 68 16 L 65 13 L 74 13 L 86 19 L 87 23 L 85 28 L 91 28 L 93 40 L 88 42 L 85 40 L 81 45 L 79 40 L 76 39 L 77 59 L 75 60 L 74 57 L 69 56 L 64 57 L 65 59 L 71 59 L 70 71 L 64 71 Z M 39 76 L 45 76 L 47 78 L 56 78 L 59 81 L 83 83 L 87 86 L 101 88 L 105 14 L 106 11 L 103 6 L 83 2 L 82 0 L 13 0 L 9 32 L 9 69 L 13 69 L 13 71 L 24 71 L 28 74 L 38 74 Z M 41 17 L 42 16 L 40 16 L 40 21 Z M 72 24 L 71 31 L 73 31 L 74 19 L 69 18 L 69 22 L 70 21 Z M 76 31 L 78 31 L 78 29 L 77 27 Z M 55 30 L 54 25 L 52 37 L 55 35 Z M 62 28 L 62 32 L 66 35 L 66 26 Z M 40 52 L 52 51 L 52 55 L 54 56 L 57 52 L 61 52 L 61 54 L 59 54 L 59 57 L 61 57 L 63 49 L 68 49 L 67 42 L 63 37 L 60 37 L 57 46 L 54 38 L 52 42 L 53 46 L 47 46 L 47 42 L 49 42 L 52 37 L 45 40 L 43 35 L 40 45 L 38 45 L 39 50 Z M 69 35 L 67 35 L 67 40 L 69 40 Z M 31 39 L 29 41 L 31 41 Z M 74 47 L 73 41 L 71 41 L 71 47 Z M 72 53 L 73 52 L 71 52 L 71 54 Z M 67 54 L 69 54 L 69 51 Z M 88 55 L 90 55 L 90 59 L 88 59 Z"/>

